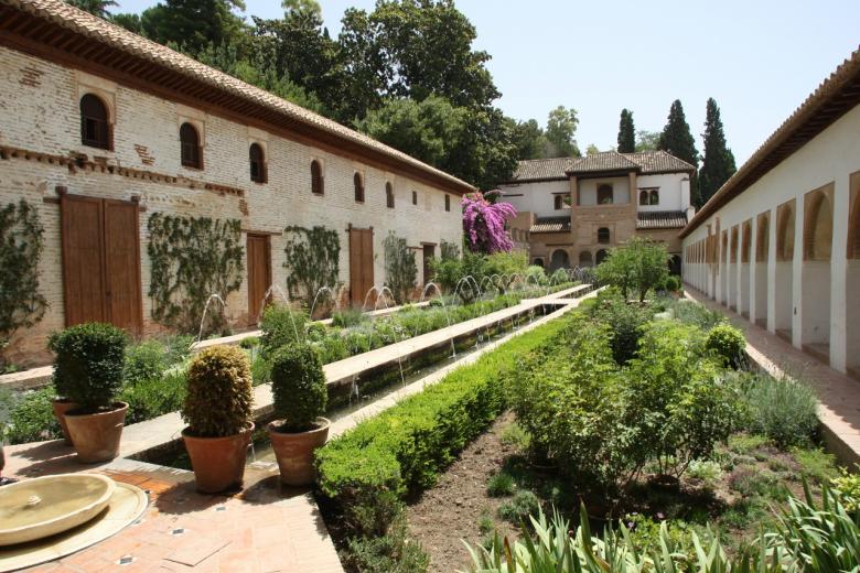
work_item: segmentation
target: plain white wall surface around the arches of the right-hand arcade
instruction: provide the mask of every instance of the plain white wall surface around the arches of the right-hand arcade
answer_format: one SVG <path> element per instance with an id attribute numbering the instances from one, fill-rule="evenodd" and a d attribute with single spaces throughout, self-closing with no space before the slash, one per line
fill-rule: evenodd
<path id="1" fill-rule="evenodd" d="M 763 298 L 757 291 L 762 282 L 759 273 L 767 273 L 767 328 L 774 332 L 791 325 L 792 342 L 820 343 L 823 325 L 828 325 L 831 367 L 860 366 L 860 275 L 849 272 L 857 261 L 847 263 L 849 225 L 849 177 L 860 171 L 860 107 L 842 116 L 835 123 L 806 143 L 794 154 L 767 172 L 741 195 L 702 221 L 684 239 L 685 247 L 707 237 L 708 225 L 720 230 L 730 229 L 752 219 L 752 251 L 757 236 L 756 216 L 770 215 L 770 264 L 756 263 L 750 268 L 751 315 L 762 316 Z M 829 263 L 803 259 L 804 197 L 808 192 L 834 184 L 832 246 Z M 795 199 L 795 241 L 792 261 L 776 262 L 776 207 Z M 739 258 L 740 261 L 740 258 Z M 719 280 L 714 280 L 714 272 Z M 717 300 L 723 298 L 724 263 L 719 269 L 709 264 L 685 264 L 685 280 Z M 829 303 L 829 304 L 828 304 Z M 805 309 L 806 306 L 806 309 Z"/>

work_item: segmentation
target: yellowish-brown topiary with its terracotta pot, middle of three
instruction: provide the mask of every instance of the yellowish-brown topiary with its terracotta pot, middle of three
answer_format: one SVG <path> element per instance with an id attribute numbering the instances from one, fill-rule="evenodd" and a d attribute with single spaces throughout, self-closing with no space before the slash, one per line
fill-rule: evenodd
<path id="1" fill-rule="evenodd" d="M 251 370 L 235 346 L 213 346 L 191 361 L 182 431 L 197 491 L 241 486 L 245 455 L 254 432 Z"/>

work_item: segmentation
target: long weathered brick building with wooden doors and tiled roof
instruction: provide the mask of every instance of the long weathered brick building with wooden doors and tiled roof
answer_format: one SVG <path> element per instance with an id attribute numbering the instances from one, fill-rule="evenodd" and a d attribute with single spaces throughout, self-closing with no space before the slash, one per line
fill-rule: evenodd
<path id="1" fill-rule="evenodd" d="M 25 198 L 44 226 L 44 318 L 19 332 L 26 361 L 65 325 L 153 332 L 147 221 L 238 219 L 235 327 L 286 282 L 287 226 L 338 234 L 353 300 L 381 284 L 381 242 L 422 259 L 460 244 L 473 187 L 370 138 L 57 0 L 0 0 L 0 205 Z"/>

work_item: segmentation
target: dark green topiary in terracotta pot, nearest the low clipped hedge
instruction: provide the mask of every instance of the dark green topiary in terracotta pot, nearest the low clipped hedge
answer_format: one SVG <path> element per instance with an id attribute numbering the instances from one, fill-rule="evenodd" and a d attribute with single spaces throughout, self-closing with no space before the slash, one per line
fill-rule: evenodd
<path id="1" fill-rule="evenodd" d="M 331 422 L 322 414 L 329 398 L 316 353 L 307 343 L 288 344 L 271 360 L 275 415 L 269 439 L 281 482 L 303 486 L 314 480 L 314 451 L 329 437 Z"/>

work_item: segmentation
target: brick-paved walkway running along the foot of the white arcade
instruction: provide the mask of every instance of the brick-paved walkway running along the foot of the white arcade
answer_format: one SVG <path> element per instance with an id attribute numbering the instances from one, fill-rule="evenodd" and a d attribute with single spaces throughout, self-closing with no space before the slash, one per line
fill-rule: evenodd
<path id="1" fill-rule="evenodd" d="M 707 294 L 689 285 L 685 289 L 688 298 L 721 312 L 746 333 L 746 352 L 760 367 L 776 377 L 787 375 L 811 383 L 818 392 L 818 413 L 828 447 L 845 464 L 860 463 L 860 382 L 752 324 Z"/>

